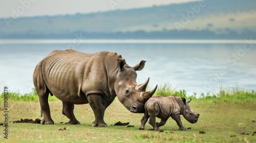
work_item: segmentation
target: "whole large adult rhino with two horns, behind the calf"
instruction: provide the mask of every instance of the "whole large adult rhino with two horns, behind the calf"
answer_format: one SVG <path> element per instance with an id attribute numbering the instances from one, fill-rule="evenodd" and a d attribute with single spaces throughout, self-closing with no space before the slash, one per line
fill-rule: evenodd
<path id="1" fill-rule="evenodd" d="M 123 106 L 134 113 L 145 111 L 145 102 L 152 91 L 145 91 L 149 78 L 137 85 L 137 70 L 145 61 L 131 67 L 121 55 L 110 52 L 95 54 L 74 50 L 54 50 L 35 67 L 33 82 L 44 118 L 41 124 L 54 124 L 48 104 L 49 93 L 62 101 L 62 114 L 69 124 L 80 124 L 74 115 L 74 104 L 89 103 L 95 115 L 94 127 L 106 127 L 105 109 L 117 96 Z"/>

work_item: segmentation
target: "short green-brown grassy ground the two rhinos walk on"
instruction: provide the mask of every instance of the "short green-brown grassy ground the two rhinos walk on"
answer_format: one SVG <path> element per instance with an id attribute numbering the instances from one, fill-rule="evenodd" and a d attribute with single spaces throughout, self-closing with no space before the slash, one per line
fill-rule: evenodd
<path id="1" fill-rule="evenodd" d="M 158 93 L 161 88 L 159 88 Z M 167 89 L 165 89 L 167 90 Z M 163 132 L 150 131 L 145 125 L 139 130 L 143 114 L 131 113 L 116 99 L 105 111 L 106 128 L 92 127 L 94 114 L 89 104 L 75 105 L 74 113 L 82 125 L 68 125 L 68 118 L 61 114 L 61 101 L 52 99 L 49 104 L 55 125 L 12 123 L 20 118 L 40 118 L 39 102 L 33 100 L 9 100 L 8 139 L 4 138 L 4 126 L 0 131 L 0 142 L 255 142 L 256 133 L 256 94 L 254 91 L 233 90 L 220 92 L 213 97 L 192 98 L 190 107 L 200 113 L 198 123 L 190 124 L 182 116 L 187 131 L 179 131 L 176 122 L 169 118 L 160 127 Z M 184 91 L 169 92 L 183 94 Z M 232 93 L 232 94 L 231 94 Z M 15 96 L 13 96 L 15 97 Z M 2 98 L 2 97 L 1 97 Z M 28 98 L 29 99 L 29 98 Z M 4 113 L 1 100 L 0 111 Z M 239 102 L 238 102 L 239 101 Z M 117 122 L 134 127 L 113 126 Z M 158 120 L 159 121 L 159 120 Z M 63 123 L 62 123 L 63 122 Z M 4 116 L 0 118 L 4 123 Z M 66 128 L 60 131 L 59 129 Z M 205 134 L 200 134 L 200 132 Z"/>

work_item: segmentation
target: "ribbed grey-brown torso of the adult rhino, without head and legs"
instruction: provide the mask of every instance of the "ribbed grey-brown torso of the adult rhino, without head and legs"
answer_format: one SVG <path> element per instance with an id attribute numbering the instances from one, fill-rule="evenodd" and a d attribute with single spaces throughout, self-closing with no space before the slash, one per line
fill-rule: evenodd
<path id="1" fill-rule="evenodd" d="M 109 70 L 115 71 L 115 66 L 109 63 L 116 63 L 120 57 L 110 52 L 53 51 L 43 59 L 42 76 L 50 91 L 60 100 L 84 104 L 88 103 L 86 95 L 90 93 L 111 96 L 108 74 Z"/>

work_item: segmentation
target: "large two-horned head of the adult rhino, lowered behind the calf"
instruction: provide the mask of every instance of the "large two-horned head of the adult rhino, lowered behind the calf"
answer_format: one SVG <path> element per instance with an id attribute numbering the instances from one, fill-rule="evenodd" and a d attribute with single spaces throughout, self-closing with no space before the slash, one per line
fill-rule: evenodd
<path id="1" fill-rule="evenodd" d="M 115 78 L 114 89 L 118 100 L 123 106 L 134 113 L 144 113 L 145 102 L 153 96 L 157 89 L 145 91 L 149 78 L 142 84 L 136 82 L 136 71 L 143 69 L 146 61 L 141 61 L 139 64 L 131 67 L 125 63 L 124 59 L 118 59 L 117 67 L 118 74 Z"/>

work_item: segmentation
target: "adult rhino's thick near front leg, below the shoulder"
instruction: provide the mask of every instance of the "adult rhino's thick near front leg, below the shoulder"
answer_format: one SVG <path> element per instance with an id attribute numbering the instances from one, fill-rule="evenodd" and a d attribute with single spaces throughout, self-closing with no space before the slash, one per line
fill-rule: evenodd
<path id="1" fill-rule="evenodd" d="M 88 102 L 93 109 L 95 121 L 92 123 L 93 127 L 107 127 L 103 120 L 105 107 L 102 104 L 102 96 L 100 94 L 90 94 Z"/>

